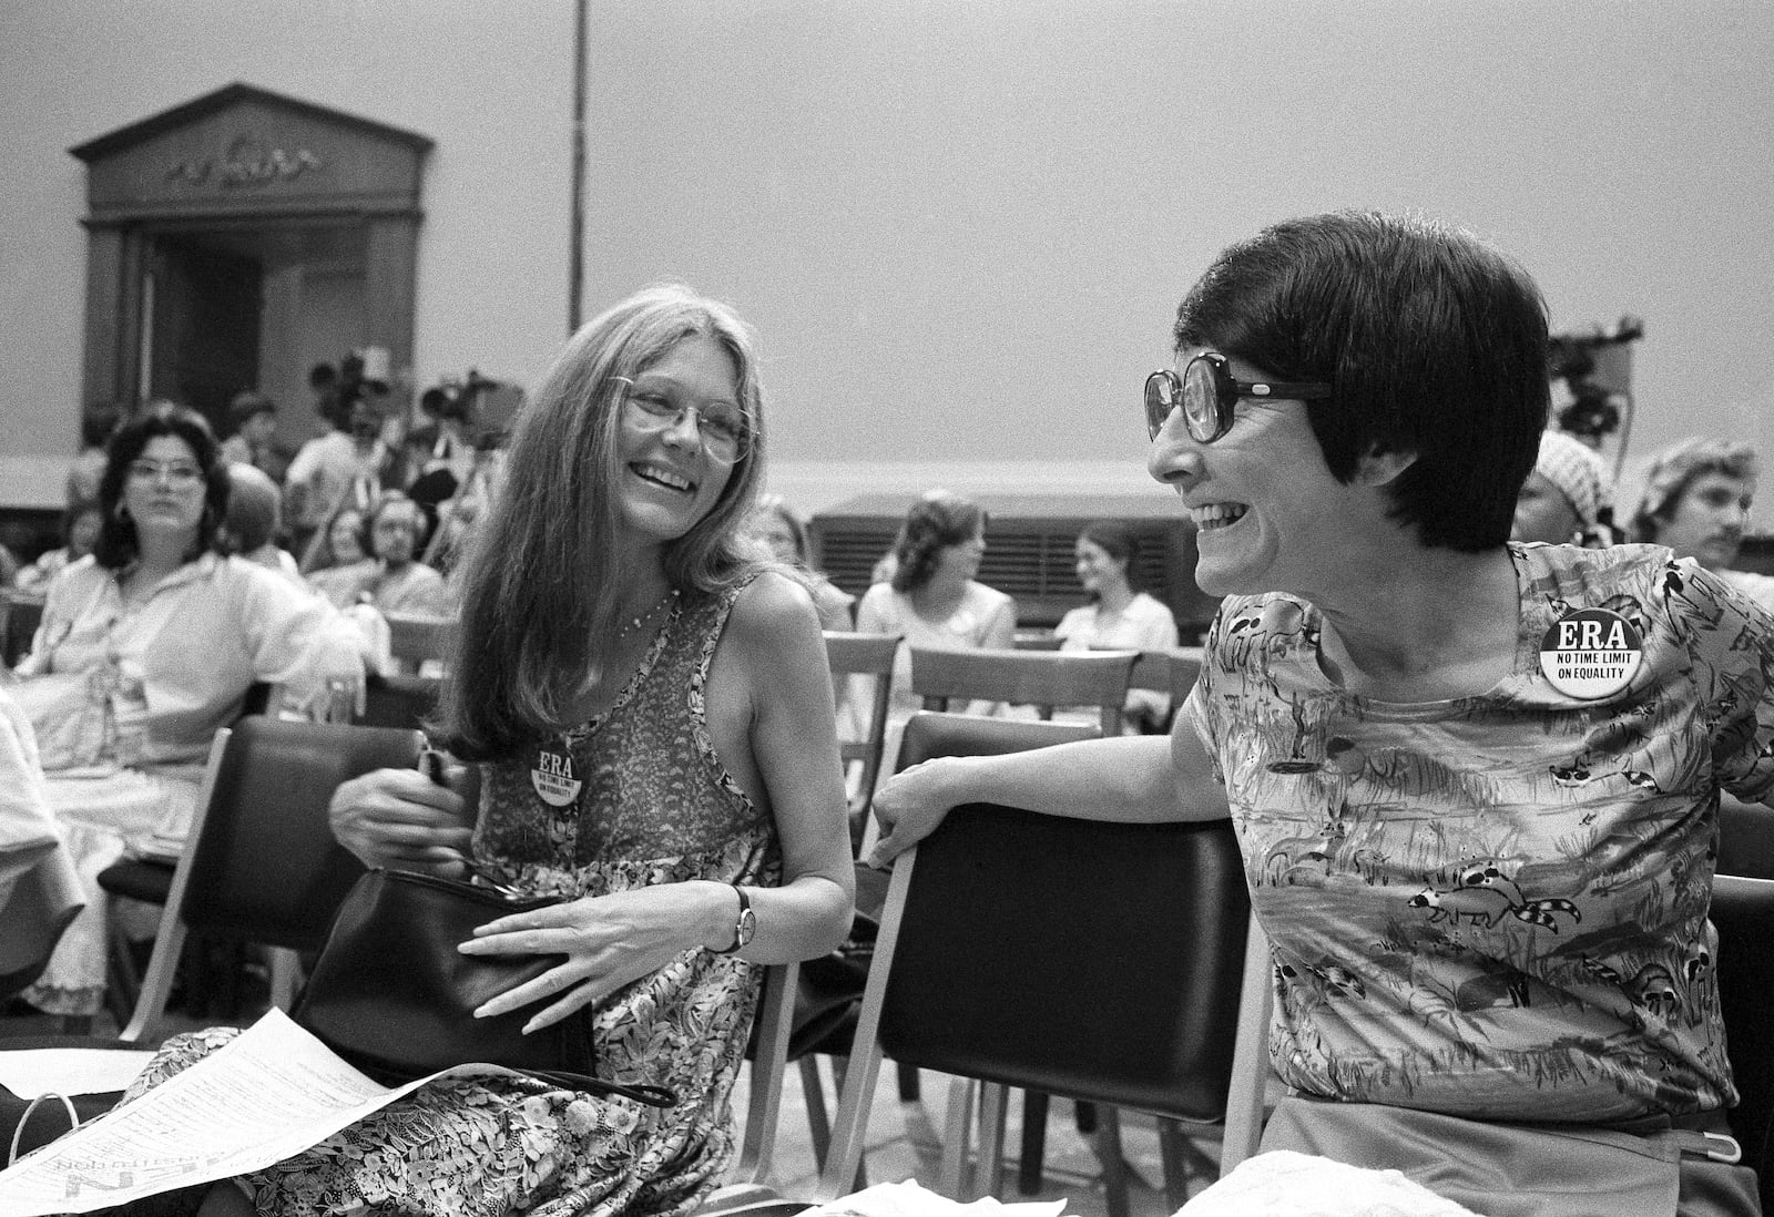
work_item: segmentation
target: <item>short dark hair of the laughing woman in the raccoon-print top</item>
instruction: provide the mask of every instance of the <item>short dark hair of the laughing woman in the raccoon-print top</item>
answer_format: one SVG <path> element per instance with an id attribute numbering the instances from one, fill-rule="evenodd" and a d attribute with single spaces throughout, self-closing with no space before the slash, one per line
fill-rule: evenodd
<path id="1" fill-rule="evenodd" d="M 1471 232 L 1357 211 L 1276 224 L 1213 261 L 1174 337 L 1329 383 L 1307 417 L 1338 481 L 1370 452 L 1414 452 L 1391 514 L 1423 545 L 1510 539 L 1547 422 L 1547 310 L 1527 271 Z"/>

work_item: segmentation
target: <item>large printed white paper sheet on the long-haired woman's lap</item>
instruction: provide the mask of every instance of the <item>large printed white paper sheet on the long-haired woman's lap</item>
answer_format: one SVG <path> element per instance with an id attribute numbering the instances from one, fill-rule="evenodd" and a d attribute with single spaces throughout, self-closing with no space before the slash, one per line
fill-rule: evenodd
<path id="1" fill-rule="evenodd" d="M 509 1073 L 465 1064 L 431 1077 Z M 7 1217 L 85 1213 L 282 1162 L 431 1077 L 389 1089 L 279 1009 L 142 1098 L 0 1171 Z"/>

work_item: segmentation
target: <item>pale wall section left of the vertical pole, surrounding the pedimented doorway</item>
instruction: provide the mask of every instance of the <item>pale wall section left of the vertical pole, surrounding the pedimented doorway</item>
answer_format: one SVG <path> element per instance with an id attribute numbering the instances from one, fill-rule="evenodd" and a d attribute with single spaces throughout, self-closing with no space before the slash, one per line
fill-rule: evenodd
<path id="1" fill-rule="evenodd" d="M 57 0 L 11 5 L 4 27 L 0 504 L 59 502 L 78 442 L 85 167 L 66 149 L 234 80 L 436 140 L 420 385 L 532 376 L 566 334 L 566 0 Z"/>

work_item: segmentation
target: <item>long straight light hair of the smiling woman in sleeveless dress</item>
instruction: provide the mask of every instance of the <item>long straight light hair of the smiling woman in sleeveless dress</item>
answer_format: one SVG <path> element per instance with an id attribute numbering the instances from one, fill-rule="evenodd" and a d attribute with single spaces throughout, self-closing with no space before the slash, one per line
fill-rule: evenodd
<path id="1" fill-rule="evenodd" d="M 633 378 L 692 337 L 738 369 L 750 444 L 715 506 L 665 545 L 665 578 L 717 593 L 761 569 L 742 536 L 763 477 L 763 389 L 750 326 L 681 284 L 648 287 L 580 326 L 523 406 L 491 509 L 461 566 L 461 626 L 440 731 L 463 759 L 511 756 L 564 715 L 619 628 L 617 433 Z"/>

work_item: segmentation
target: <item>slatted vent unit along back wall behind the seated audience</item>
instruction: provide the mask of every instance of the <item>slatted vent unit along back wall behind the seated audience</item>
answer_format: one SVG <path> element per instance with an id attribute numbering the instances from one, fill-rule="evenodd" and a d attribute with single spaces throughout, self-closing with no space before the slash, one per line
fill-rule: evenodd
<path id="1" fill-rule="evenodd" d="M 986 509 L 979 582 L 1017 598 L 1017 624 L 1052 628 L 1084 603 L 1073 546 L 1084 525 L 1116 520 L 1139 536 L 1141 582 L 1171 607 L 1185 646 L 1201 640 L 1217 596 L 1196 587 L 1196 529 L 1174 499 L 1153 495 L 974 495 Z M 892 548 L 915 495 L 862 495 L 809 522 L 812 562 L 853 596 Z"/>

